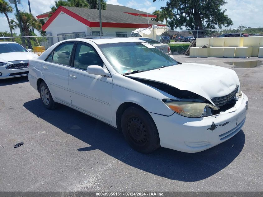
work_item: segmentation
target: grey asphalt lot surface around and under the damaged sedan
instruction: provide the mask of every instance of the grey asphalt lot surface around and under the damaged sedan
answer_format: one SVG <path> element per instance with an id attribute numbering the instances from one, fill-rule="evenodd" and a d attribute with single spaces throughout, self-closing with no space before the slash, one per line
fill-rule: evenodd
<path id="1" fill-rule="evenodd" d="M 176 59 L 226 68 L 225 61 L 263 60 Z M 138 153 L 99 120 L 62 105 L 45 109 L 27 77 L 1 80 L 0 191 L 262 191 L 263 68 L 231 69 L 249 99 L 246 123 L 199 153 Z"/>

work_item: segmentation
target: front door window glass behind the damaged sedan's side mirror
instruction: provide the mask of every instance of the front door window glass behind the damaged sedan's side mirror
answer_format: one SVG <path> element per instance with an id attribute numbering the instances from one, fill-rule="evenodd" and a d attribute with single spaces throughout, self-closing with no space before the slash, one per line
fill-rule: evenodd
<path id="1" fill-rule="evenodd" d="M 98 54 L 88 45 L 77 44 L 74 67 L 87 70 L 89 65 L 99 65 L 103 67 L 103 63 Z"/>

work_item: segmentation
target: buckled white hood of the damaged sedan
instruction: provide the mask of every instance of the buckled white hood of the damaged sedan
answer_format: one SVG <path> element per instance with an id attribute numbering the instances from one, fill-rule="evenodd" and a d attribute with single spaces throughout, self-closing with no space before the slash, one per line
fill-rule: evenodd
<path id="1" fill-rule="evenodd" d="M 161 82 L 180 90 L 188 90 L 209 101 L 211 101 L 210 98 L 228 95 L 237 85 L 240 87 L 235 71 L 197 63 L 182 63 L 129 76 Z"/>

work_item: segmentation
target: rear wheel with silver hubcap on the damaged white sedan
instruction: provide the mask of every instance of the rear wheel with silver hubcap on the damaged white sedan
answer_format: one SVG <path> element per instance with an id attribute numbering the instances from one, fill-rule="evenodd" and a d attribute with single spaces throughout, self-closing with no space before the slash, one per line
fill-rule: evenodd
<path id="1" fill-rule="evenodd" d="M 56 102 L 54 102 L 54 100 L 50 94 L 49 88 L 45 82 L 40 83 L 39 93 L 40 93 L 40 98 L 41 98 L 42 103 L 45 106 L 45 108 L 51 110 L 51 109 L 55 109 L 57 107 L 58 104 Z"/>

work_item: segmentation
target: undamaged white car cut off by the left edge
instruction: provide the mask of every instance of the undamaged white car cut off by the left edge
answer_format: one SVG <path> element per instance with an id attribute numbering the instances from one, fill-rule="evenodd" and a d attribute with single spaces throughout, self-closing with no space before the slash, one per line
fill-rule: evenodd
<path id="1" fill-rule="evenodd" d="M 0 79 L 26 76 L 29 59 L 38 57 L 30 51 L 16 42 L 0 42 Z"/>

